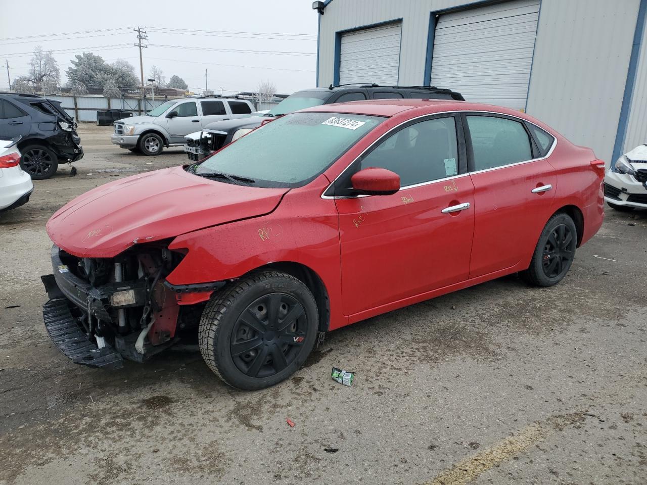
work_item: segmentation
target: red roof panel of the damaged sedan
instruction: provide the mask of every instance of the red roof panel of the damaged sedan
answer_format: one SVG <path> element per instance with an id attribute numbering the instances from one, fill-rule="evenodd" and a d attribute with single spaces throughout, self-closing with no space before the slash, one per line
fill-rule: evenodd
<path id="1" fill-rule="evenodd" d="M 490 111 L 494 113 L 509 114 L 518 118 L 527 118 L 520 111 L 483 103 L 470 103 L 455 100 L 419 100 L 415 98 L 392 99 L 392 100 L 366 100 L 351 101 L 346 103 L 331 103 L 318 105 L 301 111 L 310 112 L 331 112 L 331 113 L 353 113 L 367 114 L 373 116 L 395 116 L 404 111 L 419 111 L 419 114 L 443 113 L 445 111 Z"/>

